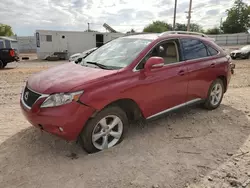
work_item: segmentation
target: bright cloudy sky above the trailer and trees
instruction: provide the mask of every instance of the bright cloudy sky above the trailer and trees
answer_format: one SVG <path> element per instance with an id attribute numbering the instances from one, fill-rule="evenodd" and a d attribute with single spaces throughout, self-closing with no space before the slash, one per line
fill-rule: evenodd
<path id="1" fill-rule="evenodd" d="M 11 3 L 10 3 L 11 2 Z M 119 32 L 141 32 L 156 20 L 173 23 L 174 0 L 0 0 L 0 23 L 12 26 L 18 36 L 36 29 L 105 32 L 103 23 Z M 191 23 L 204 29 L 220 24 L 234 0 L 193 0 Z M 244 0 L 250 4 L 250 0 Z M 187 23 L 189 0 L 177 0 L 176 22 Z"/>

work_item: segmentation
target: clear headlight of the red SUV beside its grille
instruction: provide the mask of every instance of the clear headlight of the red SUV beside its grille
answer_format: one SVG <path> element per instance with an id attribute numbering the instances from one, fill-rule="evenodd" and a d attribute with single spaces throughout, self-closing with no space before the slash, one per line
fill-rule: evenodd
<path id="1" fill-rule="evenodd" d="M 78 101 L 83 91 L 73 93 L 57 93 L 50 95 L 41 105 L 41 108 L 61 106 L 72 101 Z"/>

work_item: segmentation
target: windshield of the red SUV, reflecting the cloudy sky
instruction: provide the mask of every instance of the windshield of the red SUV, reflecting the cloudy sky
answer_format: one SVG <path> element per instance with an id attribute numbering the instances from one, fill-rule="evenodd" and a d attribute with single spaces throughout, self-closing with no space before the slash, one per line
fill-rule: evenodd
<path id="1" fill-rule="evenodd" d="M 128 66 L 139 53 L 151 42 L 148 39 L 118 38 L 101 46 L 85 59 L 81 65 L 95 62 L 111 69 Z"/>

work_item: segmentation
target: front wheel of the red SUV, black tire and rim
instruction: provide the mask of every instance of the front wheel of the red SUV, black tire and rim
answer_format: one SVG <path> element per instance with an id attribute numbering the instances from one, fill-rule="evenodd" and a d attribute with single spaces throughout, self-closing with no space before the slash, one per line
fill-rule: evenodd
<path id="1" fill-rule="evenodd" d="M 82 147 L 88 153 L 95 153 L 119 144 L 128 128 L 126 113 L 112 106 L 100 111 L 90 119 L 80 133 Z"/>

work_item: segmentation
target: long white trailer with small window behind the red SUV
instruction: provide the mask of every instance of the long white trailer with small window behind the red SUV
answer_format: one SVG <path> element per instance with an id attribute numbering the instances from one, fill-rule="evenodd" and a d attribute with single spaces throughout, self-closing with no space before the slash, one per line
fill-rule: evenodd
<path id="1" fill-rule="evenodd" d="M 46 57 L 58 52 L 67 52 L 67 58 L 104 43 L 124 36 L 123 33 L 99 33 L 79 31 L 37 30 L 35 33 L 37 57 Z"/>

